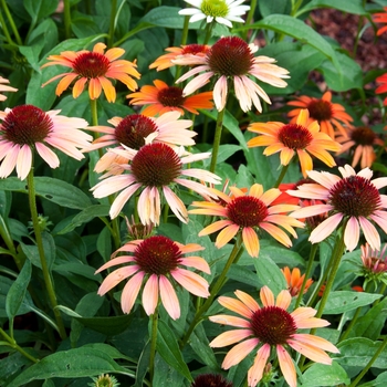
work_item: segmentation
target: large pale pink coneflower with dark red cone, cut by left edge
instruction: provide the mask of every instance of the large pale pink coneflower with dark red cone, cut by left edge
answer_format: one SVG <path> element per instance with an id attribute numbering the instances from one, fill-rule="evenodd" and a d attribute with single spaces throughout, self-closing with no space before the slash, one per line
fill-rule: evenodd
<path id="1" fill-rule="evenodd" d="M 15 168 L 18 178 L 24 180 L 32 167 L 34 149 L 51 168 L 60 165 L 51 148 L 77 160 L 84 158 L 79 148 L 88 146 L 93 139 L 80 130 L 87 127 L 87 122 L 61 116 L 60 112 L 43 112 L 33 105 L 0 112 L 0 178 L 8 177 Z"/>

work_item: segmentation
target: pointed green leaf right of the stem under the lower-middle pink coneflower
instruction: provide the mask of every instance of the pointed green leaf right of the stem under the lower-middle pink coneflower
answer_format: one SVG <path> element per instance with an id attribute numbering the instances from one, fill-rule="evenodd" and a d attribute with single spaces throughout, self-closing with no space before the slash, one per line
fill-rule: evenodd
<path id="1" fill-rule="evenodd" d="M 167 364 L 188 380 L 194 380 L 187 364 L 182 359 L 174 332 L 163 320 L 158 322 L 156 349 Z"/>

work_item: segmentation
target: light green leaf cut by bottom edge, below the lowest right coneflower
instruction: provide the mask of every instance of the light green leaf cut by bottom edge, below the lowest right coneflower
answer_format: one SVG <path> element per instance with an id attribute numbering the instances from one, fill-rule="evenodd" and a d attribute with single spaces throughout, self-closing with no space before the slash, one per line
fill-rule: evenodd
<path id="1" fill-rule="evenodd" d="M 322 386 L 338 386 L 341 384 L 348 385 L 348 378 L 345 369 L 337 363 L 332 365 L 315 363 L 307 368 L 302 376 L 302 387 L 322 387 Z"/>

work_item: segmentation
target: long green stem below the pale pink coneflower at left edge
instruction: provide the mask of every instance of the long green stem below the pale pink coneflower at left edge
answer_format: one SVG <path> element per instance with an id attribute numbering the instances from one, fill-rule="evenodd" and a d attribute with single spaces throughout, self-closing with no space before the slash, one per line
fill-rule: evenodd
<path id="1" fill-rule="evenodd" d="M 52 280 L 51 280 L 51 273 L 50 273 L 50 270 L 48 266 L 48 262 L 45 260 L 42 232 L 41 232 L 41 229 L 39 226 L 36 198 L 35 198 L 35 186 L 34 186 L 34 180 L 33 180 L 33 167 L 31 168 L 31 170 L 28 175 L 27 184 L 28 184 L 29 203 L 30 203 L 30 210 L 31 210 L 33 231 L 35 233 L 35 240 L 36 240 L 36 245 L 38 245 L 38 251 L 39 251 L 40 263 L 42 266 L 45 290 L 48 292 L 50 303 L 51 303 L 51 306 L 52 306 L 54 315 L 55 315 L 60 336 L 62 339 L 64 339 L 64 338 L 66 338 L 66 332 L 64 330 L 64 324 L 63 324 L 61 312 L 56 307 L 57 306 L 56 295 L 55 295 L 54 286 L 53 286 Z"/>

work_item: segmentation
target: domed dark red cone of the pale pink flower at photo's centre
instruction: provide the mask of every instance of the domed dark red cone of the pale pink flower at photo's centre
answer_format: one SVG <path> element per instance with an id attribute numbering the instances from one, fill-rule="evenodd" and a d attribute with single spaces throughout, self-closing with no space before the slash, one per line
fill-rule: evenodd
<path id="1" fill-rule="evenodd" d="M 143 146 L 132 160 L 132 171 L 147 187 L 170 185 L 181 171 L 181 161 L 168 145 L 154 143 Z"/>

